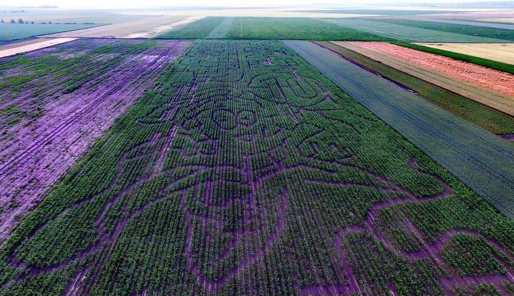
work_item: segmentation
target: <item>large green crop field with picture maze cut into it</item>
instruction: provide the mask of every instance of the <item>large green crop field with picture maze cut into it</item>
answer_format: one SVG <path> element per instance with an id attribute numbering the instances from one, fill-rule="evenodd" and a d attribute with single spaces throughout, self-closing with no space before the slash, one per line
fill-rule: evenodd
<path id="1" fill-rule="evenodd" d="M 281 43 L 198 41 L 14 230 L 0 294 L 443 295 L 508 284 L 512 250 L 514 220 Z"/>

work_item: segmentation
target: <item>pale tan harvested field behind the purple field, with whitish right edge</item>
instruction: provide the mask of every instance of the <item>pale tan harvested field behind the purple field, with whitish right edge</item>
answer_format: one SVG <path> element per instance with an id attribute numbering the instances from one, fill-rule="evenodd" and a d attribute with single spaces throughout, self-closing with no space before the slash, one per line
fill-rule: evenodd
<path id="1" fill-rule="evenodd" d="M 150 38 L 164 31 L 171 30 L 175 24 L 185 20 L 186 16 L 152 16 L 137 21 L 87 28 L 70 32 L 51 34 L 51 37 L 78 38 Z M 195 19 L 191 19 L 194 21 Z"/>

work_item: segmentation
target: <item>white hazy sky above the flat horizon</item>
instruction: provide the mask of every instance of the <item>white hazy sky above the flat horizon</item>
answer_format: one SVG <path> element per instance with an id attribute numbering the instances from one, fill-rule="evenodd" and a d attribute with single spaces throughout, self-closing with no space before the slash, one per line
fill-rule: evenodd
<path id="1" fill-rule="evenodd" d="M 352 4 L 364 5 L 387 5 L 390 3 L 395 4 L 413 4 L 423 5 L 427 3 L 447 4 L 447 3 L 463 3 L 463 2 L 476 2 L 477 0 L 360 0 L 359 2 L 352 2 Z M 495 2 L 497 0 L 481 0 L 481 2 Z M 318 4 L 332 4 L 332 5 L 348 5 L 345 1 L 327 1 L 327 0 L 260 0 L 245 2 L 241 0 L 221 0 L 213 2 L 212 0 L 19 0 L 15 2 L 16 6 L 40 6 L 40 5 L 55 5 L 60 8 L 144 8 L 144 7 L 168 7 L 168 6 L 281 6 L 281 5 L 318 5 Z"/>

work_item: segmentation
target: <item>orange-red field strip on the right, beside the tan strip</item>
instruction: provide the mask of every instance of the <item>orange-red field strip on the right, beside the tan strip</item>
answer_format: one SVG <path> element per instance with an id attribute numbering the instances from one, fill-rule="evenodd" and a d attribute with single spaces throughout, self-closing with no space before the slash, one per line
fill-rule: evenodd
<path id="1" fill-rule="evenodd" d="M 514 96 L 514 75 L 509 73 L 385 42 L 354 42 L 354 44 Z"/>

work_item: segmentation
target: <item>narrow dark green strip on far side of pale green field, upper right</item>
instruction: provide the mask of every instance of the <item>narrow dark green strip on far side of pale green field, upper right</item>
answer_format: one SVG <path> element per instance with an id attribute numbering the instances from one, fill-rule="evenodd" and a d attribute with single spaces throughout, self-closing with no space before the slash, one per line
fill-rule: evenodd
<path id="1" fill-rule="evenodd" d="M 416 27 L 422 29 L 430 29 L 442 32 L 459 33 L 473 36 L 481 36 L 487 38 L 495 38 L 506 41 L 514 41 L 514 30 L 499 29 L 499 28 L 488 28 L 461 24 L 448 24 L 438 23 L 429 21 L 414 21 L 414 20 L 401 20 L 401 19 L 382 19 L 377 20 L 379 22 L 397 24 L 409 27 Z"/>

